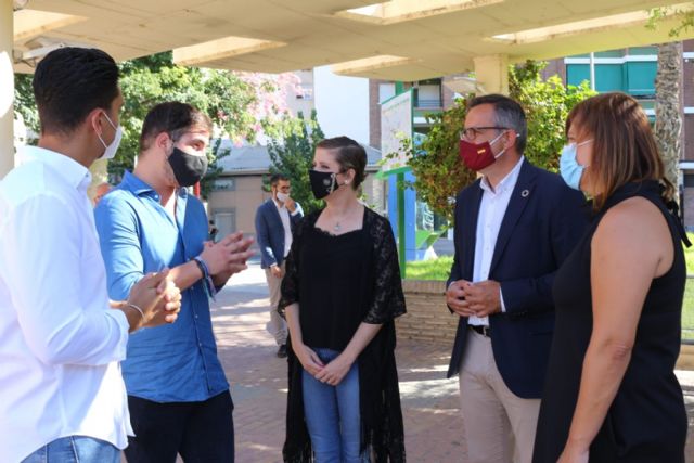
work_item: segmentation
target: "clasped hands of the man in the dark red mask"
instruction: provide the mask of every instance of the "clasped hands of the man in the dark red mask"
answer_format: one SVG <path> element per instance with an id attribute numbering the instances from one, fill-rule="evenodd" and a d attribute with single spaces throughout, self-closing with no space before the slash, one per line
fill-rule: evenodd
<path id="1" fill-rule="evenodd" d="M 446 290 L 446 304 L 462 317 L 488 317 L 501 311 L 501 285 L 493 280 L 458 280 Z"/>

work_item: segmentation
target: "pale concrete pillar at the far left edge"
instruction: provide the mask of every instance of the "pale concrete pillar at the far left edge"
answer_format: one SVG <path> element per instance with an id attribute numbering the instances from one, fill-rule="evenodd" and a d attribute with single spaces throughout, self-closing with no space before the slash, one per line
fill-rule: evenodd
<path id="1" fill-rule="evenodd" d="M 0 0 L 0 179 L 14 167 L 14 37 L 12 0 Z"/>

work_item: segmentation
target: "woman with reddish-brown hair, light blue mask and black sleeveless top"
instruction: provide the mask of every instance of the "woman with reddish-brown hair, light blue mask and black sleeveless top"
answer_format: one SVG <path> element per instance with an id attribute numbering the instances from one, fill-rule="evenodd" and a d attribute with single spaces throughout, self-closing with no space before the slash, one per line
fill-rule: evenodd
<path id="1" fill-rule="evenodd" d="M 566 128 L 562 177 L 593 197 L 594 220 L 554 281 L 534 462 L 684 462 L 673 369 L 686 236 L 672 184 L 631 97 L 588 99 Z"/>

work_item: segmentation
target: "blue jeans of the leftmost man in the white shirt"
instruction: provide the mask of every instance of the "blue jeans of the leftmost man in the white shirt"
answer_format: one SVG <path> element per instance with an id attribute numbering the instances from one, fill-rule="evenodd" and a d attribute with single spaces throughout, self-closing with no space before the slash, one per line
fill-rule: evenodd
<path id="1" fill-rule="evenodd" d="M 68 436 L 41 447 L 22 463 L 120 463 L 120 450 L 93 437 Z"/>

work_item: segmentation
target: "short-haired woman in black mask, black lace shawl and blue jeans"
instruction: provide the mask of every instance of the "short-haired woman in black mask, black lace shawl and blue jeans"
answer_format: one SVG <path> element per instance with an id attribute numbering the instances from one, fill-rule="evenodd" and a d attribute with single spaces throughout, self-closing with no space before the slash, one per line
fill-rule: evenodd
<path id="1" fill-rule="evenodd" d="M 326 206 L 298 226 L 282 281 L 286 462 L 404 461 L 394 355 L 404 297 L 390 226 L 357 198 L 365 165 L 338 137 L 317 145 L 309 171 Z"/>

